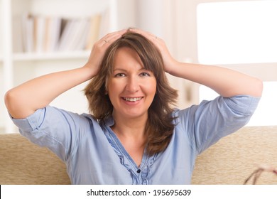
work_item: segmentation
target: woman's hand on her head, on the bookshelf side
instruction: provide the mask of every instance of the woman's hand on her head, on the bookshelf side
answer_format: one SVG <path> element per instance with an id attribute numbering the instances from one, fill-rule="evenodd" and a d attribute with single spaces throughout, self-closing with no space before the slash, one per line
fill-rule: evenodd
<path id="1" fill-rule="evenodd" d="M 94 43 L 92 47 L 92 51 L 90 52 L 89 59 L 87 63 L 85 64 L 85 68 L 89 68 L 92 74 L 92 77 L 94 75 L 97 75 L 97 72 L 99 71 L 99 66 L 102 62 L 102 59 L 104 57 L 104 53 L 106 52 L 107 48 L 109 48 L 109 45 L 114 43 L 117 39 L 121 38 L 121 36 L 126 33 L 126 29 L 121 31 L 116 31 L 113 33 L 108 33 L 106 36 L 102 37 Z"/>

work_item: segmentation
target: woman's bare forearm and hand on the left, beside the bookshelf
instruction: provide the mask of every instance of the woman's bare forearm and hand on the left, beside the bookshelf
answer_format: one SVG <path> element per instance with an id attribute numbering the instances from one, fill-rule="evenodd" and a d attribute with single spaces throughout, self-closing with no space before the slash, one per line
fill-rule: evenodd
<path id="1" fill-rule="evenodd" d="M 43 75 L 6 92 L 5 104 L 11 117 L 26 118 L 37 109 L 46 107 L 63 92 L 97 75 L 104 52 L 124 32 L 109 33 L 97 41 L 88 62 L 82 68 Z"/>

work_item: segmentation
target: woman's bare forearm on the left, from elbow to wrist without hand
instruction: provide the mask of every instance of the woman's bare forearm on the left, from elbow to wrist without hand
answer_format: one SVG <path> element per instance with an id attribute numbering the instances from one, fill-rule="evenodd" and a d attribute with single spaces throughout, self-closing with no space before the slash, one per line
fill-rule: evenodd
<path id="1" fill-rule="evenodd" d="M 37 77 L 6 92 L 5 103 L 13 118 L 28 117 L 58 95 L 92 78 L 89 68 L 77 68 Z"/>

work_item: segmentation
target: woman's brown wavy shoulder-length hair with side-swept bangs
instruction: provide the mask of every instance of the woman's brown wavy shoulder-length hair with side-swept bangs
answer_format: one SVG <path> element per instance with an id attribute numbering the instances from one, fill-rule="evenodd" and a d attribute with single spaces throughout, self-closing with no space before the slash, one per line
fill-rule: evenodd
<path id="1" fill-rule="evenodd" d="M 169 85 L 160 51 L 147 38 L 129 31 L 109 46 L 98 74 L 85 87 L 89 112 L 100 124 L 112 116 L 113 106 L 107 95 L 107 82 L 112 75 L 116 50 L 122 47 L 135 50 L 144 68 L 153 72 L 156 77 L 156 95 L 148 109 L 145 129 L 146 151 L 148 155 L 153 155 L 165 150 L 170 143 L 175 127 L 173 124 L 175 118 L 172 117 L 173 105 L 175 105 L 178 93 Z"/>

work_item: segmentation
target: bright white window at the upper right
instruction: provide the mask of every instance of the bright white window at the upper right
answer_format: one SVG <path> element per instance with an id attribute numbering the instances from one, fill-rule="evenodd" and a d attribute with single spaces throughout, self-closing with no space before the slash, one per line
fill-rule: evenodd
<path id="1" fill-rule="evenodd" d="M 277 1 L 197 6 L 198 60 L 207 64 L 276 63 Z"/>

